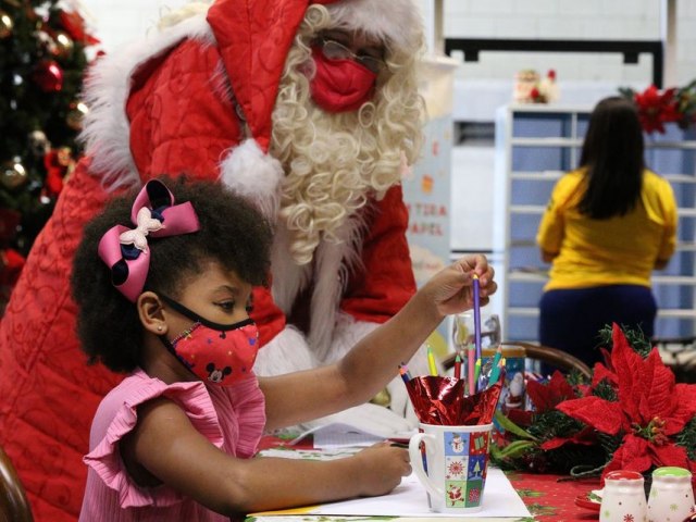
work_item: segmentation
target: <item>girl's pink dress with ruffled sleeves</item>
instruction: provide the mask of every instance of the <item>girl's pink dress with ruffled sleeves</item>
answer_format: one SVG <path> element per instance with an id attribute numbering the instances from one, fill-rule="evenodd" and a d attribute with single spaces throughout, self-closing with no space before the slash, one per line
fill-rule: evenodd
<path id="1" fill-rule="evenodd" d="M 200 381 L 167 385 L 137 370 L 104 397 L 95 415 L 80 522 L 229 521 L 167 486 L 140 487 L 128 476 L 119 440 L 135 427 L 137 407 L 161 396 L 179 405 L 196 430 L 226 453 L 246 459 L 256 452 L 265 425 L 256 376 L 207 387 Z"/>

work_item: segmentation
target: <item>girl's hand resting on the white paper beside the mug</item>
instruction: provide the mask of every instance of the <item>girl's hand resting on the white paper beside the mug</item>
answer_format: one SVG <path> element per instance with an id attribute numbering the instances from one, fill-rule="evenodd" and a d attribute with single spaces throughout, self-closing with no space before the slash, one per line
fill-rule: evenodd
<path id="1" fill-rule="evenodd" d="M 377 443 L 357 453 L 361 496 L 386 495 L 411 474 L 408 449 L 391 446 L 389 442 Z"/>

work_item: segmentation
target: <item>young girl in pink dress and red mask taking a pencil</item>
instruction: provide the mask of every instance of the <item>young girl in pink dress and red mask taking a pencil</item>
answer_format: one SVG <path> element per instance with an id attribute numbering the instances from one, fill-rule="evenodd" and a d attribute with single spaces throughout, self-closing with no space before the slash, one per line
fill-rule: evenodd
<path id="1" fill-rule="evenodd" d="M 411 467 L 386 443 L 325 462 L 250 457 L 264 430 L 374 396 L 445 315 L 472 307 L 474 273 L 485 304 L 496 289 L 486 259 L 436 274 L 337 363 L 257 378 L 249 296 L 265 283 L 271 231 L 220 184 L 166 183 L 171 192 L 151 181 L 114 199 L 75 257 L 84 349 L 129 372 L 92 423 L 80 520 L 223 521 L 391 490 Z"/>

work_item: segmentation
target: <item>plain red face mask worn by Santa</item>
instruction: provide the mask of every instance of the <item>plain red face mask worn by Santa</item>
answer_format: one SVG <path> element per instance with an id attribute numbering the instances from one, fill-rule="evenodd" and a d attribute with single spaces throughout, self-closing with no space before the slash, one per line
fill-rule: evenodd
<path id="1" fill-rule="evenodd" d="M 353 60 L 334 60 L 312 49 L 316 73 L 310 83 L 312 99 L 326 112 L 355 111 L 370 101 L 377 75 Z"/>

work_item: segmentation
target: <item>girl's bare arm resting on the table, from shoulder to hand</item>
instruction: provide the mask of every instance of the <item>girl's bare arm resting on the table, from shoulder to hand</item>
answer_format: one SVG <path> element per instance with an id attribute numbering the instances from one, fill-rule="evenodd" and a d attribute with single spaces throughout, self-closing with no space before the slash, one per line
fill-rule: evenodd
<path id="1" fill-rule="evenodd" d="M 323 462 L 237 459 L 213 446 L 165 398 L 138 409 L 138 424 L 121 452 L 133 456 L 132 465 L 226 515 L 383 495 L 411 472 L 408 451 L 388 444 Z"/>

